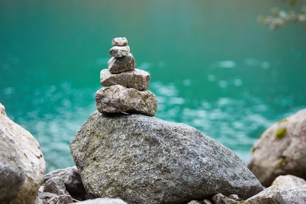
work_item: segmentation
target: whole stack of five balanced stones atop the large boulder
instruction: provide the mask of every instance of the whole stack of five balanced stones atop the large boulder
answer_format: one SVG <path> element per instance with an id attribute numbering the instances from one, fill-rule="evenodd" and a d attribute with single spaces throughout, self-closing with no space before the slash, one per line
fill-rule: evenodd
<path id="1" fill-rule="evenodd" d="M 108 69 L 100 72 L 100 84 L 105 86 L 95 93 L 100 113 L 139 113 L 154 116 L 157 98 L 148 91 L 150 74 L 136 69 L 136 62 L 126 38 L 114 38 L 109 53 Z"/>

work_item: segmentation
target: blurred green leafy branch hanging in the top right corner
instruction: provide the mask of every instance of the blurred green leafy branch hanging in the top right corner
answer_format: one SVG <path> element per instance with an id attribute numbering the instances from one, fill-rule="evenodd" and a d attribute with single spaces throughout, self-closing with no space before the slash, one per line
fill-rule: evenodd
<path id="1" fill-rule="evenodd" d="M 286 27 L 291 23 L 302 23 L 306 26 L 306 0 L 283 1 L 288 2 L 291 7 L 298 7 L 298 11 L 285 11 L 278 7 L 273 7 L 271 15 L 261 15 L 257 18 L 257 21 L 267 25 L 271 30 Z"/>

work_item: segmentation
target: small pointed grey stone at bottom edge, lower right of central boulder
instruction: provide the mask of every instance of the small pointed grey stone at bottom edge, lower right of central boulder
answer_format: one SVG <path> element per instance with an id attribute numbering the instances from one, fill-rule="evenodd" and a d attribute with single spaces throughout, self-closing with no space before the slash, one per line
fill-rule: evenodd
<path id="1" fill-rule="evenodd" d="M 286 204 L 281 193 L 279 193 L 276 186 L 270 186 L 266 190 L 248 198 L 245 204 Z"/>

